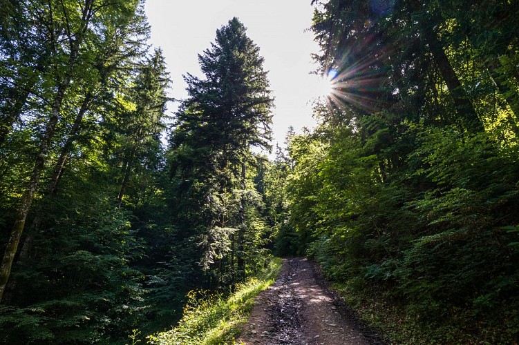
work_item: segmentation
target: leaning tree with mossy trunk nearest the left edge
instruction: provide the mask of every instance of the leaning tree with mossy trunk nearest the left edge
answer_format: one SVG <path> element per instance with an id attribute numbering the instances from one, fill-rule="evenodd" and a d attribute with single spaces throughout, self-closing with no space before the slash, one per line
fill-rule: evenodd
<path id="1" fill-rule="evenodd" d="M 97 35 L 102 34 L 104 28 L 109 26 L 114 12 L 120 14 L 124 24 L 124 21 L 127 22 L 133 17 L 136 6 L 136 1 L 104 3 L 104 1 L 85 0 L 77 3 L 59 0 L 47 1 L 27 9 L 25 15 L 31 17 L 31 21 L 36 24 L 33 30 L 39 33 L 36 46 L 47 48 L 49 68 L 48 73 L 42 78 L 44 82 L 38 92 L 38 97 L 42 100 L 38 110 L 43 130 L 39 133 L 39 148 L 34 158 L 32 172 L 19 201 L 10 239 L 0 266 L 0 299 L 8 282 L 12 262 L 49 151 L 54 143 L 56 130 L 58 125 L 61 125 L 60 119 L 64 119 L 61 115 L 66 93 L 73 86 L 73 81 L 92 67 L 92 55 L 86 47 L 94 43 Z M 21 4 L 17 4 L 15 9 L 26 10 Z M 10 128 L 9 121 L 7 130 Z"/>

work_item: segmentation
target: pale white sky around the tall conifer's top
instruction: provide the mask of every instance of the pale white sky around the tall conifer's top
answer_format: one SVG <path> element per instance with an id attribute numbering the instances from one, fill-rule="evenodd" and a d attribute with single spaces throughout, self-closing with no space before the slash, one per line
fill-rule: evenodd
<path id="1" fill-rule="evenodd" d="M 310 103 L 322 93 L 322 81 L 310 74 L 316 69 L 310 54 L 319 52 L 308 30 L 313 13 L 310 0 L 147 0 L 145 10 L 151 44 L 162 48 L 173 80 L 170 97 L 187 97 L 182 75 L 202 77 L 198 54 L 214 42 L 217 29 L 238 17 L 269 71 L 276 105 L 272 145 L 283 146 L 289 126 L 296 132 L 315 126 Z M 176 108 L 176 103 L 168 106 L 169 112 Z"/>

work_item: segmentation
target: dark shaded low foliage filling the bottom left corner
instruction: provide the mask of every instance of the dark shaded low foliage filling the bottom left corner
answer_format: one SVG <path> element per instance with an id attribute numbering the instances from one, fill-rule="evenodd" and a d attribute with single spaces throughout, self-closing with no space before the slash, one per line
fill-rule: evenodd
<path id="1" fill-rule="evenodd" d="M 128 265 L 142 244 L 128 215 L 83 210 L 72 233 L 61 219 L 35 239 L 39 255 L 13 271 L 17 293 L 3 306 L 3 342 L 115 342 L 142 322 L 142 274 Z"/>

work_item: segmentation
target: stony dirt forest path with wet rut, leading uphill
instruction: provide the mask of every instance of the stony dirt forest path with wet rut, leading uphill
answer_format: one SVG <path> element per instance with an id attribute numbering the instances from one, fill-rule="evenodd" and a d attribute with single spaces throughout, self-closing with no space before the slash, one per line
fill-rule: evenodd
<path id="1" fill-rule="evenodd" d="M 307 259 L 283 259 L 279 278 L 256 297 L 238 344 L 384 344 L 323 288 L 317 272 Z"/>

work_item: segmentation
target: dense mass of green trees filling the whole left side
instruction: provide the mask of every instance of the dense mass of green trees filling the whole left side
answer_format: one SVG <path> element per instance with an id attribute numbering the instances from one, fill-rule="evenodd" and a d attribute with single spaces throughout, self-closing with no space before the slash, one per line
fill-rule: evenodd
<path id="1" fill-rule="evenodd" d="M 140 1 L 25 5 L 1 4 L 1 248 L 20 209 L 26 224 L 0 342 L 124 343 L 150 309 L 136 265 L 169 225 L 142 214 L 165 204 L 164 59 Z"/>

